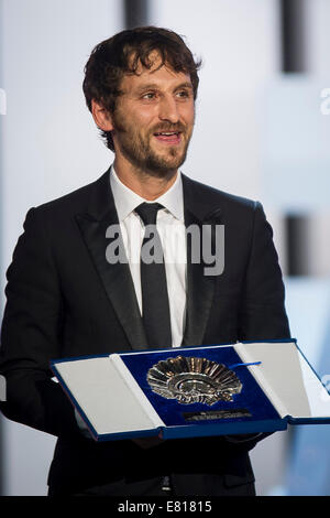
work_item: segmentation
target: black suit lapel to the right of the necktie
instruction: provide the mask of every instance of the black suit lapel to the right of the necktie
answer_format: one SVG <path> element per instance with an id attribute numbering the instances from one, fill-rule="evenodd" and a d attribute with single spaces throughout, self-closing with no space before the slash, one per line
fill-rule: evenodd
<path id="1" fill-rule="evenodd" d="M 209 212 L 207 199 L 200 199 L 199 193 L 194 192 L 194 184 L 191 180 L 183 175 L 184 184 L 184 203 L 185 203 L 185 225 L 188 230 L 189 227 L 195 226 L 199 229 L 200 245 L 199 245 L 199 262 L 191 261 L 191 246 L 193 240 L 187 239 L 187 311 L 186 311 L 186 327 L 183 338 L 183 346 L 198 346 L 202 344 L 204 336 L 207 328 L 207 323 L 212 307 L 215 296 L 216 276 L 206 276 L 204 255 L 201 250 L 201 236 L 204 225 L 216 225 L 221 222 L 219 208 Z M 202 205 L 202 202 L 206 205 Z M 207 208 L 206 208 L 207 207 Z M 191 228 L 191 227 L 190 227 Z"/>

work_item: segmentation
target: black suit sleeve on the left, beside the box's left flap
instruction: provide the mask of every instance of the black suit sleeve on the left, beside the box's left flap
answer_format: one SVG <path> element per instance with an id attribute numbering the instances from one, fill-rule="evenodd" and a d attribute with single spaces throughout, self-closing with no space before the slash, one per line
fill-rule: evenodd
<path id="1" fill-rule="evenodd" d="M 61 356 L 61 285 L 42 211 L 31 209 L 8 269 L 0 374 L 1 410 L 11 420 L 54 435 L 77 433 L 74 409 L 52 381 L 50 360 Z"/>

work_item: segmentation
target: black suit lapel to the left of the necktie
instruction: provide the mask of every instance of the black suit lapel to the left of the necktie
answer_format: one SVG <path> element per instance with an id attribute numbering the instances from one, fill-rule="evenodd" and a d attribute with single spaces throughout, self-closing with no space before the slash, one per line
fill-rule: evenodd
<path id="1" fill-rule="evenodd" d="M 107 247 L 111 244 L 111 239 L 106 237 L 107 229 L 111 225 L 119 226 L 109 171 L 95 184 L 87 212 L 77 214 L 76 220 L 131 347 L 145 349 L 147 342 L 129 263 L 118 261 L 110 265 L 106 258 Z M 118 239 L 118 235 L 113 239 Z"/>

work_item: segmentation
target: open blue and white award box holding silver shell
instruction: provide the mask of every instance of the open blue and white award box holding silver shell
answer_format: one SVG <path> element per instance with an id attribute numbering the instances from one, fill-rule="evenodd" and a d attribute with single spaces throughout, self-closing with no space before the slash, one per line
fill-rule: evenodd
<path id="1" fill-rule="evenodd" d="M 330 395 L 294 339 L 58 359 L 52 370 L 96 441 L 330 423 Z"/>

